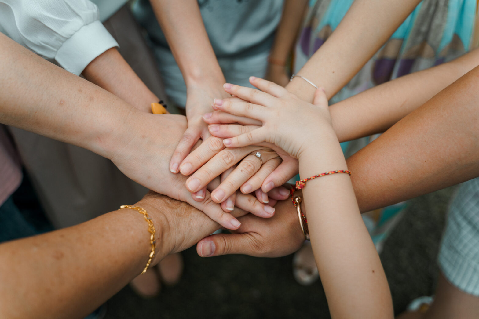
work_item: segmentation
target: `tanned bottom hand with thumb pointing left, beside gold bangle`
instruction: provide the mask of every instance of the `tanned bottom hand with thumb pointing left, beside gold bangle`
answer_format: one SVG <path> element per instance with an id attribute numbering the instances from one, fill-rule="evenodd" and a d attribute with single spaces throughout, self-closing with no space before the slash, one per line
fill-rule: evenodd
<path id="1" fill-rule="evenodd" d="M 248 214 L 239 217 L 241 227 L 232 234 L 215 234 L 198 242 L 202 257 L 246 254 L 255 257 L 280 257 L 297 251 L 305 238 L 291 200 L 278 202 L 276 214 L 259 218 Z"/>

